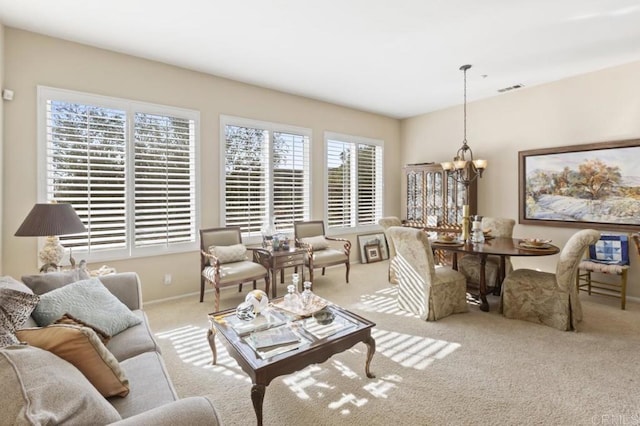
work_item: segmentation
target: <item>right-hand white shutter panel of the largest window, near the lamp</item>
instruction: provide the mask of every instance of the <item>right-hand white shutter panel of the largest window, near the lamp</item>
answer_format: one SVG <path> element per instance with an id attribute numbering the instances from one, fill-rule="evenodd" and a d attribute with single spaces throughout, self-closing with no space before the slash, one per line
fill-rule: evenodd
<path id="1" fill-rule="evenodd" d="M 134 115 L 134 247 L 196 238 L 195 122 Z"/>

